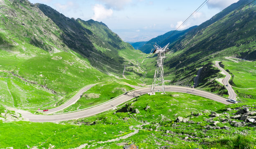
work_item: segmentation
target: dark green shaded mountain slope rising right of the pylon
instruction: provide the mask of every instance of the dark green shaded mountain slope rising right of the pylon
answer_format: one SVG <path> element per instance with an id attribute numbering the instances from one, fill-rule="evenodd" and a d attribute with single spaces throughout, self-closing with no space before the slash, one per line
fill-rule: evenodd
<path id="1" fill-rule="evenodd" d="M 191 85 L 196 68 L 225 56 L 255 60 L 256 2 L 238 10 L 249 2 L 240 0 L 230 5 L 169 47 L 172 52 L 167 54 L 165 66 L 169 75 L 175 75 L 174 82 Z"/>

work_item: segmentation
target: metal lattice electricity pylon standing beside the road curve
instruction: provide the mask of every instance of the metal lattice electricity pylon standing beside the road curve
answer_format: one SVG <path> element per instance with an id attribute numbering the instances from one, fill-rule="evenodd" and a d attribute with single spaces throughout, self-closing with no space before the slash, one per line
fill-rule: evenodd
<path id="1" fill-rule="evenodd" d="M 154 75 L 154 80 L 152 82 L 152 87 L 150 95 L 155 94 L 155 86 L 156 85 L 162 85 L 162 93 L 164 94 L 164 69 L 163 69 L 163 64 L 164 64 L 164 58 L 165 58 L 165 53 L 169 51 L 169 49 L 166 47 L 169 45 L 169 43 L 161 48 L 159 45 L 155 44 L 155 50 L 153 53 L 157 53 L 157 65 L 156 65 L 156 70 L 155 70 L 155 75 Z M 159 90 L 158 90 L 159 91 Z"/>

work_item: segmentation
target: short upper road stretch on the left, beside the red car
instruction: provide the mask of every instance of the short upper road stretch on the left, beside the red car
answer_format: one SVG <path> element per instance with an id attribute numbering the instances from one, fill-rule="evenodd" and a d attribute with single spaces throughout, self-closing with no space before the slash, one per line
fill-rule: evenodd
<path id="1" fill-rule="evenodd" d="M 72 97 L 72 99 L 70 99 L 69 101 L 65 102 L 64 104 L 62 104 L 59 107 L 53 108 L 53 109 L 49 109 L 49 111 L 46 111 L 45 113 L 50 114 L 50 113 L 55 113 L 58 111 L 61 111 L 69 106 L 71 106 L 72 104 L 76 103 L 78 99 L 80 99 L 80 97 L 82 96 L 82 94 L 84 92 L 86 92 L 88 89 L 92 88 L 93 86 L 95 86 L 96 84 L 92 84 L 92 85 L 88 85 L 82 89 L 80 89 L 77 94 L 74 95 L 74 97 Z M 42 110 L 41 110 L 42 111 Z"/>

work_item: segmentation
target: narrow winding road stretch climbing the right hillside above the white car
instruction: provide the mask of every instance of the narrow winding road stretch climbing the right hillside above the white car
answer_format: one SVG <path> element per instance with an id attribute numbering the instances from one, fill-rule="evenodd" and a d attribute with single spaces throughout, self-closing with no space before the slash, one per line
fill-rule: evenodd
<path id="1" fill-rule="evenodd" d="M 231 78 L 231 76 L 229 75 L 228 72 L 226 72 L 226 70 L 224 70 L 222 67 L 220 67 L 219 65 L 220 61 L 215 61 L 215 65 L 225 73 L 226 77 L 223 79 L 223 84 L 225 85 L 226 89 L 228 90 L 228 95 L 230 99 L 236 100 L 236 93 L 233 90 L 233 88 L 231 87 L 231 85 L 228 83 L 228 80 Z"/>

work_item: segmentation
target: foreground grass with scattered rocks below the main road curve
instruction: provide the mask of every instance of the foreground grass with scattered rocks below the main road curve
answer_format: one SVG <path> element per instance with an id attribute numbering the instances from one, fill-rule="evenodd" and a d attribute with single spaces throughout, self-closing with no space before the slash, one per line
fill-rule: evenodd
<path id="1" fill-rule="evenodd" d="M 145 110 L 146 106 L 150 106 L 150 108 Z M 231 129 L 208 130 L 204 128 L 204 126 L 212 124 L 205 121 L 205 119 L 210 118 L 208 116 L 210 112 L 215 111 L 219 113 L 225 107 L 224 104 L 191 94 L 168 92 L 167 94 L 157 94 L 156 96 L 143 95 L 133 102 L 120 105 L 118 110 L 110 110 L 92 117 L 71 120 L 60 124 L 0 122 L 0 147 L 25 148 L 26 145 L 29 145 L 30 147 L 48 148 L 49 144 L 52 144 L 56 148 L 68 149 L 78 147 L 80 144 L 88 144 L 91 148 L 120 149 L 124 146 L 120 145 L 121 143 L 134 143 L 140 148 L 148 149 L 155 149 L 164 145 L 183 149 L 196 147 L 206 149 L 209 147 L 220 147 L 221 144 L 226 144 L 221 147 L 223 149 L 229 149 L 229 147 L 235 149 L 233 146 L 235 146 L 235 140 L 238 137 L 238 134 L 235 132 L 245 132 L 245 134 L 248 134 L 246 139 L 240 139 L 242 143 L 251 142 L 250 146 L 247 144 L 246 147 L 255 145 L 253 137 L 256 137 L 256 133 L 253 127 L 233 127 L 229 123 L 224 124 L 220 122 L 217 126 L 223 127 L 226 125 Z M 228 107 L 234 108 L 232 105 Z M 140 113 L 121 112 L 122 110 L 120 109 L 125 108 L 138 109 Z M 210 112 L 203 113 L 202 111 L 205 109 Z M 116 112 L 116 114 L 113 114 L 113 112 Z M 195 114 L 201 112 L 203 115 L 195 117 L 191 115 L 191 112 Z M 233 112 L 235 110 L 228 113 L 232 114 Z M 195 123 L 177 123 L 175 119 L 178 116 L 189 118 L 189 120 Z M 123 119 L 125 117 L 128 120 Z M 225 114 L 221 114 L 220 118 L 225 118 Z M 218 120 L 218 118 L 216 117 L 212 120 Z M 197 124 L 197 122 L 202 123 Z M 141 124 L 145 126 L 137 126 Z M 97 143 L 131 133 L 134 131 L 129 129 L 131 126 L 134 129 L 138 129 L 139 132 L 119 141 Z M 172 133 L 166 134 L 166 130 Z M 193 138 L 184 139 L 187 135 L 192 135 Z M 211 143 L 207 146 L 200 145 L 200 142 Z"/>

